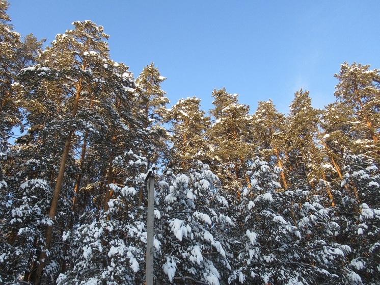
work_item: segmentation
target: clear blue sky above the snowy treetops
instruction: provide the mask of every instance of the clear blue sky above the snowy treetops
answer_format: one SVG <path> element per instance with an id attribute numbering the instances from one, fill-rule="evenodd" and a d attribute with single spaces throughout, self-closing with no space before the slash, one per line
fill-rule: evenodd
<path id="1" fill-rule="evenodd" d="M 294 92 L 310 91 L 313 106 L 334 101 L 340 64 L 380 68 L 380 1 L 129 1 L 9 0 L 21 35 L 49 44 L 92 20 L 110 35 L 112 59 L 138 76 L 151 62 L 168 79 L 171 104 L 226 87 L 250 105 L 272 98 L 288 113 Z"/>

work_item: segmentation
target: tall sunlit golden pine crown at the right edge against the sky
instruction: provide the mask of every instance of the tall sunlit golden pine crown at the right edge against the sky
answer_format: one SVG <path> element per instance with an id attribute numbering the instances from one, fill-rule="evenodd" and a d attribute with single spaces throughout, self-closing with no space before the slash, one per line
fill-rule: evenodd
<path id="1" fill-rule="evenodd" d="M 352 151 L 378 160 L 380 71 L 370 70 L 369 65 L 345 62 L 335 77 L 339 80 L 334 93 L 337 98 L 335 110 L 340 113 L 336 115 L 343 118 L 331 118 L 334 122 L 330 124 L 339 129 Z"/>

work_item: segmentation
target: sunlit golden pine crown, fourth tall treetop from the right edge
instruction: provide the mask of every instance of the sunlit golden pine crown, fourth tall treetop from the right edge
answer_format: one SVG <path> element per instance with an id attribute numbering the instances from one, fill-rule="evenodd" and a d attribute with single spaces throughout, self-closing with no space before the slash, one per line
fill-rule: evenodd
<path id="1" fill-rule="evenodd" d="M 249 185 L 245 173 L 253 157 L 249 106 L 239 104 L 237 94 L 229 94 L 224 88 L 214 90 L 212 97 L 215 106 L 210 111 L 213 123 L 206 133 L 209 156 L 214 160 L 211 166 L 222 183 L 235 189 L 239 196 L 242 186 Z"/>

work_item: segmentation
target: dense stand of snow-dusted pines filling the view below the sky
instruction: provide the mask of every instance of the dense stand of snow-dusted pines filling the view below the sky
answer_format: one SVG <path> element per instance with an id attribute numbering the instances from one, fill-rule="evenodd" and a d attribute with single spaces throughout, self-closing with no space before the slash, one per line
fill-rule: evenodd
<path id="1" fill-rule="evenodd" d="M 0 1 L 0 283 L 379 284 L 380 70 L 337 66 L 335 101 L 287 115 L 215 89 L 171 108 L 75 21 L 48 46 Z M 63 31 L 57 31 L 63 32 Z"/>

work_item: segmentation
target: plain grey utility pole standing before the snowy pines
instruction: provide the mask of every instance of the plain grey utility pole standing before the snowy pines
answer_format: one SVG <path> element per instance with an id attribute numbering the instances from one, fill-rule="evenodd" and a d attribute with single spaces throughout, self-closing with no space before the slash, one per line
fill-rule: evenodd
<path id="1" fill-rule="evenodd" d="M 149 169 L 145 178 L 145 181 L 148 180 L 146 285 L 153 285 L 154 169 L 154 167 Z"/>

